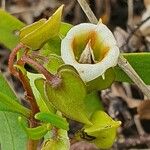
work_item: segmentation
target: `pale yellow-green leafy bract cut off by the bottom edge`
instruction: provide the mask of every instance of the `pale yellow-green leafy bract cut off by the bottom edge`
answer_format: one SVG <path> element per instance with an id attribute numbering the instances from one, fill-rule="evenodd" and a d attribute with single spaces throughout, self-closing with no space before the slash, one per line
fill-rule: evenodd
<path id="1" fill-rule="evenodd" d="M 67 135 L 67 131 L 63 129 L 59 129 L 57 131 L 57 137 L 52 137 L 47 140 L 43 146 L 42 150 L 69 150 L 70 149 L 70 141 Z"/>

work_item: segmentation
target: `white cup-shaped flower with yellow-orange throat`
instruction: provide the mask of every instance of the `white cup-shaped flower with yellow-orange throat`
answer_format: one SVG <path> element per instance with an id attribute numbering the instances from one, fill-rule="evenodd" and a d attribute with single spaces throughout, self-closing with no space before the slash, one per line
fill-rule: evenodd
<path id="1" fill-rule="evenodd" d="M 61 57 L 88 82 L 117 64 L 119 48 L 112 32 L 100 21 L 72 27 L 61 43 Z"/>

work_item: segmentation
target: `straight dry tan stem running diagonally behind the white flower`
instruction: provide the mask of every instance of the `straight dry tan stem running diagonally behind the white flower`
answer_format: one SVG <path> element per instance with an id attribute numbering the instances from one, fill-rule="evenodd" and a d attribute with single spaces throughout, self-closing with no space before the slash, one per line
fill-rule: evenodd
<path id="1" fill-rule="evenodd" d="M 81 5 L 84 13 L 86 14 L 90 22 L 97 24 L 98 20 L 95 17 L 89 5 L 87 4 L 86 0 L 77 0 L 77 1 Z M 146 95 L 147 98 L 150 99 L 150 89 L 147 87 L 147 85 L 143 82 L 143 80 L 139 77 L 139 75 L 135 72 L 135 70 L 132 68 L 129 62 L 122 55 L 119 56 L 118 65 L 141 89 L 144 95 Z"/>

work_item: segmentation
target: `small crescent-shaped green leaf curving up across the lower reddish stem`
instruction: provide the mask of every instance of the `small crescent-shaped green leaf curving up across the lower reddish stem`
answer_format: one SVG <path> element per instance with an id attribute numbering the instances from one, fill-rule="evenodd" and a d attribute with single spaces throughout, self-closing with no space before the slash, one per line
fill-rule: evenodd
<path id="1" fill-rule="evenodd" d="M 18 121 L 22 129 L 26 132 L 28 138 L 32 140 L 39 140 L 43 138 L 44 135 L 51 129 L 50 124 L 42 124 L 34 128 L 28 128 L 21 117 L 18 118 Z"/>

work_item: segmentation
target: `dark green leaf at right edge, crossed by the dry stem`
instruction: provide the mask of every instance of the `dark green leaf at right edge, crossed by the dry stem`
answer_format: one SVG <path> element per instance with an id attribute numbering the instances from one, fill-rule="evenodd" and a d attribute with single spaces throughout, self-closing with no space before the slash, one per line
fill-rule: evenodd
<path id="1" fill-rule="evenodd" d="M 150 53 L 124 53 L 123 56 L 129 61 L 142 80 L 150 85 Z M 132 82 L 126 73 L 119 67 L 115 67 L 116 81 Z"/>

